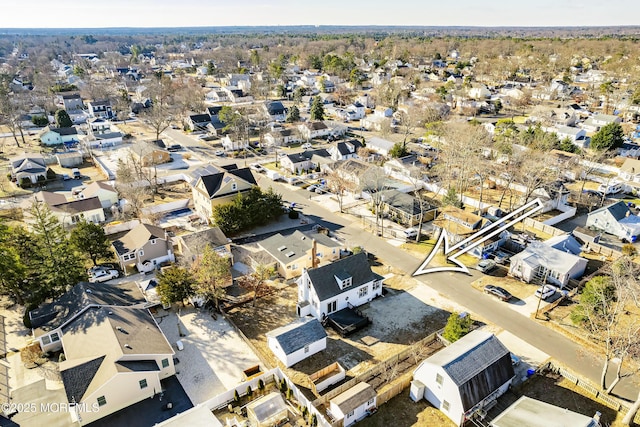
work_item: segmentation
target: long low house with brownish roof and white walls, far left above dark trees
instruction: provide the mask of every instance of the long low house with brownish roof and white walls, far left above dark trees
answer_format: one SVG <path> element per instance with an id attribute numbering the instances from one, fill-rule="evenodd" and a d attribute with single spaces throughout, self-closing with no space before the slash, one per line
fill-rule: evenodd
<path id="1" fill-rule="evenodd" d="M 27 223 L 32 222 L 28 210 L 34 203 L 46 204 L 64 227 L 71 227 L 82 220 L 96 224 L 105 222 L 104 210 L 97 197 L 67 201 L 60 193 L 39 191 L 22 203 Z"/>

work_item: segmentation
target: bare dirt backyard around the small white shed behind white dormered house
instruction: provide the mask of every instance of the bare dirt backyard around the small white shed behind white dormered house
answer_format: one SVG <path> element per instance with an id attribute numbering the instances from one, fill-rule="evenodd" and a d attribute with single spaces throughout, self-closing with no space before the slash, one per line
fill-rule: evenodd
<path id="1" fill-rule="evenodd" d="M 251 304 L 230 310 L 228 317 L 242 330 L 263 360 L 283 367 L 267 347 L 265 334 L 297 318 L 297 285 L 287 286 Z M 286 369 L 287 375 L 303 390 L 311 384 L 308 375 L 338 361 L 348 377 L 366 371 L 409 345 L 444 327 L 449 312 L 424 304 L 404 290 L 386 289 L 386 295 L 359 307 L 373 323 L 347 338 L 327 328 L 325 351 Z M 402 315 L 399 315 L 402 313 Z M 363 342 L 375 342 L 366 345 Z"/>

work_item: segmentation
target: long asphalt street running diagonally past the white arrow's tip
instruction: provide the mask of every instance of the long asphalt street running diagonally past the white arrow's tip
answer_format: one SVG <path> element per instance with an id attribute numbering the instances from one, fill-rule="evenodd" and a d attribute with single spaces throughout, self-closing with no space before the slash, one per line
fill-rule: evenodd
<path id="1" fill-rule="evenodd" d="M 265 176 L 261 176 L 258 183 L 265 188 L 272 186 L 283 195 L 283 200 L 295 202 L 306 216 L 335 231 L 344 239 L 346 246 L 362 246 L 383 259 L 386 264 L 393 265 L 408 275 L 413 274 L 423 261 L 409 256 L 407 252 L 388 244 L 384 239 L 365 232 L 357 218 L 333 214 L 319 204 L 308 200 L 307 192 L 304 190 L 293 190 L 287 185 L 271 182 Z M 331 221 L 324 218 L 331 218 Z M 595 384 L 600 383 L 603 366 L 601 357 L 597 357 L 566 336 L 511 310 L 505 303 L 471 288 L 471 282 L 481 275 L 482 273 L 477 271 L 471 274 L 441 272 L 417 276 L 416 279 L 446 298 L 466 307 L 471 313 L 487 319 L 549 354 Z M 610 371 L 613 373 L 615 364 L 611 365 L 613 366 Z M 623 369 L 623 374 L 624 372 Z M 613 375 L 608 377 L 613 378 Z M 615 387 L 613 394 L 628 401 L 634 401 L 638 396 L 638 389 L 637 379 L 626 376 Z"/>

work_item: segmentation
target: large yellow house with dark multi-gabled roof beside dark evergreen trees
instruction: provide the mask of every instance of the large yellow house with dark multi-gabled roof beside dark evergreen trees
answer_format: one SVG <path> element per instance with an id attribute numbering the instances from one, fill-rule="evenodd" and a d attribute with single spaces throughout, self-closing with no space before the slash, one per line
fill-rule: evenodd
<path id="1" fill-rule="evenodd" d="M 245 193 L 255 186 L 256 179 L 249 168 L 200 176 L 191 189 L 194 207 L 202 218 L 210 221 L 214 206 L 229 203 L 238 194 Z"/>

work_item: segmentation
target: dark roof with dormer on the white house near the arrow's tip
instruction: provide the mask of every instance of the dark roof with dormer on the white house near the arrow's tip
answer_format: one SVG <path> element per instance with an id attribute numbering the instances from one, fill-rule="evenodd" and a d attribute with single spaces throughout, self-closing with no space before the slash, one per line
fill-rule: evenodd
<path id="1" fill-rule="evenodd" d="M 307 274 L 320 301 L 325 301 L 343 292 L 338 286 L 335 276 L 342 276 L 344 272 L 351 275 L 351 286 L 348 289 L 356 288 L 372 280 L 382 280 L 382 276 L 371 271 L 365 253 L 351 255 L 331 264 L 311 268 L 307 270 Z"/>

